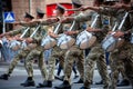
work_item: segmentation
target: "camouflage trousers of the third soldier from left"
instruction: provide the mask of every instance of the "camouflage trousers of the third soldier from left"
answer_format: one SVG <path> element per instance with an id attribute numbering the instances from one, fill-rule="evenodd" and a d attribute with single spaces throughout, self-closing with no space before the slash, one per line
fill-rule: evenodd
<path id="1" fill-rule="evenodd" d="M 48 60 L 48 63 L 49 63 L 48 80 L 53 80 L 54 79 L 53 77 L 54 77 L 54 69 L 55 69 L 55 59 L 59 59 L 60 63 L 63 67 L 65 51 L 66 50 L 61 50 L 59 47 L 54 47 L 52 49 L 51 57 Z"/>

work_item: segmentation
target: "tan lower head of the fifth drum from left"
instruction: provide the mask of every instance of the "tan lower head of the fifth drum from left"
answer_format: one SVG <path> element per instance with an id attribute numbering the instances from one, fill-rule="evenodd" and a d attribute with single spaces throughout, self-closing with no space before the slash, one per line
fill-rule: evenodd
<path id="1" fill-rule="evenodd" d="M 88 48 L 91 48 L 94 42 L 96 41 L 96 37 L 95 36 L 92 36 L 90 39 L 89 39 L 89 42 L 88 41 L 82 41 L 81 44 L 80 44 L 80 49 L 88 49 Z"/>

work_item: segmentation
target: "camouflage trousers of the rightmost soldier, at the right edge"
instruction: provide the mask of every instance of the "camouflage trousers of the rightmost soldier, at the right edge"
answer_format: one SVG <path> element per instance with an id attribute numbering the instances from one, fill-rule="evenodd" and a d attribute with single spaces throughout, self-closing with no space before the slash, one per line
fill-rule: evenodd
<path id="1" fill-rule="evenodd" d="M 111 53 L 112 83 L 110 89 L 116 89 L 120 71 L 123 71 L 124 78 L 129 76 L 127 73 L 129 70 L 130 70 L 130 75 L 131 72 L 133 73 L 132 53 L 133 53 L 132 44 L 129 42 L 125 42 L 122 48 Z M 129 66 L 131 67 L 130 69 Z"/>

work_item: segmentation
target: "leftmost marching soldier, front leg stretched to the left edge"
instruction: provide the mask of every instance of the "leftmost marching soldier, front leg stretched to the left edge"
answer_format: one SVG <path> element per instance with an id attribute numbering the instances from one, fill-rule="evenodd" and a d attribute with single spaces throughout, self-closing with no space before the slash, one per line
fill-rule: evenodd
<path id="1" fill-rule="evenodd" d="M 25 13 L 24 16 L 24 21 L 25 22 L 29 22 L 33 19 L 33 17 L 29 13 Z M 14 34 L 18 34 L 18 33 L 21 33 L 21 31 L 25 30 L 25 28 L 22 28 L 22 29 L 18 29 L 18 30 L 13 30 L 13 31 L 10 31 L 10 32 L 6 32 L 4 34 L 10 34 L 10 36 L 14 36 Z M 33 29 L 30 29 L 29 32 L 25 34 L 25 37 L 29 37 L 31 33 L 33 32 Z M 2 36 L 4 36 L 2 34 Z M 19 39 L 18 40 L 22 40 L 22 39 Z M 27 42 L 29 42 L 29 40 L 27 39 Z M 18 61 L 21 60 L 22 58 L 27 57 L 27 55 L 29 53 L 30 50 L 20 50 L 20 52 L 14 57 L 14 59 L 12 60 L 12 62 L 10 63 L 9 66 L 9 69 L 7 70 L 7 72 L 4 75 L 1 75 L 0 76 L 0 79 L 4 79 L 4 80 L 8 80 L 8 78 L 10 77 L 10 75 L 12 73 L 14 67 L 17 66 Z"/>

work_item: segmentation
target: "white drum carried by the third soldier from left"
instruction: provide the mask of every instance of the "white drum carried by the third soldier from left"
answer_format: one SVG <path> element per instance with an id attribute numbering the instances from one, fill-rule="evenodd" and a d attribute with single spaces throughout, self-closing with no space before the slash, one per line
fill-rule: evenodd
<path id="1" fill-rule="evenodd" d="M 45 39 L 42 39 L 41 46 L 44 48 L 44 50 L 50 49 L 57 44 L 55 39 L 51 38 L 50 36 L 45 37 Z"/>

